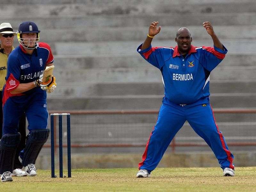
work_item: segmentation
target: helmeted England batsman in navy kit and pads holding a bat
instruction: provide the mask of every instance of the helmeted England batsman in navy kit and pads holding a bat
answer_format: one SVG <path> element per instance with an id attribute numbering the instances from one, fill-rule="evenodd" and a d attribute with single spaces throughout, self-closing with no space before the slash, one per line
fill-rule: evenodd
<path id="1" fill-rule="evenodd" d="M 13 160 L 20 142 L 18 124 L 25 112 L 29 134 L 19 159 L 29 176 L 36 175 L 35 162 L 49 136 L 47 127 L 46 92 L 56 88 L 55 77 L 43 82 L 43 72 L 53 65 L 51 48 L 39 42 L 37 25 L 32 21 L 20 23 L 19 47 L 14 49 L 7 61 L 6 84 L 3 89 L 3 137 L 0 141 L 1 181 L 12 181 Z"/>

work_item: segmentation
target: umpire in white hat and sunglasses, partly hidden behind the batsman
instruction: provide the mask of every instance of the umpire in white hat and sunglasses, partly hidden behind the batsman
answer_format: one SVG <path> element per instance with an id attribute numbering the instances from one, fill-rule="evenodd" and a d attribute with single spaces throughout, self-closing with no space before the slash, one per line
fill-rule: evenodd
<path id="1" fill-rule="evenodd" d="M 14 49 L 13 39 L 15 32 L 13 32 L 12 26 L 10 23 L 2 23 L 0 25 L 0 136 L 2 137 L 2 126 L 3 126 L 3 108 L 2 108 L 2 91 L 5 84 L 5 77 L 7 73 L 7 59 L 9 54 Z M 26 116 L 25 113 L 21 116 L 19 122 L 19 132 L 21 134 L 20 144 L 16 149 L 16 155 L 14 160 L 14 170 L 12 176 L 27 176 L 24 171 L 22 171 L 22 165 L 19 161 L 20 151 L 25 148 L 26 143 Z"/>

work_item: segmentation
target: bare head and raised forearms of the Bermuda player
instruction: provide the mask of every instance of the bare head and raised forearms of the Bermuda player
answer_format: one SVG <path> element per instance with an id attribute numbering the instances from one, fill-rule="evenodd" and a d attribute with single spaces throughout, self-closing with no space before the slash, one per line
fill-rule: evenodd
<path id="1" fill-rule="evenodd" d="M 150 24 L 150 26 L 148 28 L 149 36 L 154 37 L 155 35 L 157 35 L 160 32 L 161 26 L 159 26 L 157 28 L 158 23 L 159 23 L 158 21 L 153 21 Z M 209 21 L 205 21 L 203 23 L 203 26 L 204 26 L 205 30 L 207 31 L 207 33 L 212 37 L 213 45 L 215 47 L 218 47 L 221 50 L 223 50 L 223 45 L 220 42 L 220 40 L 218 39 L 217 35 L 215 34 L 212 24 Z M 141 50 L 147 49 L 150 46 L 152 39 L 153 38 L 147 36 L 146 40 L 143 42 L 143 44 L 141 46 Z M 178 29 L 178 31 L 176 33 L 175 42 L 177 42 L 178 50 L 181 55 L 188 54 L 190 47 L 191 47 L 191 42 L 192 42 L 192 37 L 191 37 L 191 34 L 190 34 L 188 28 L 182 27 L 182 28 Z"/>

